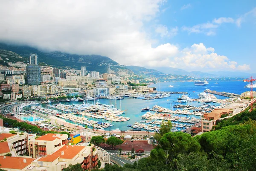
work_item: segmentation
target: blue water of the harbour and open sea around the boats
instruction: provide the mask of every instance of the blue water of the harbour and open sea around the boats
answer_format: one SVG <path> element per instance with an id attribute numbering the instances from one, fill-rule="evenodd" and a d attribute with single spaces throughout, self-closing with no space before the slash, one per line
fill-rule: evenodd
<path id="1" fill-rule="evenodd" d="M 161 92 L 187 92 L 188 96 L 192 99 L 198 99 L 198 94 L 203 92 L 205 89 L 215 90 L 218 92 L 228 92 L 228 93 L 235 93 L 235 94 L 241 94 L 245 91 L 250 91 L 249 88 L 244 88 L 246 85 L 246 82 L 243 81 L 219 81 L 218 84 L 215 84 L 215 81 L 211 82 L 209 81 L 209 84 L 207 86 L 195 86 L 194 82 L 158 82 L 157 84 L 150 84 L 149 87 L 156 87 L 157 91 Z M 172 85 L 173 87 L 169 87 L 169 85 Z M 130 117 L 129 121 L 126 122 L 111 122 L 106 121 L 105 119 L 95 119 L 87 117 L 88 119 L 95 120 L 98 122 L 111 122 L 114 126 L 105 128 L 105 130 L 112 130 L 119 128 L 119 130 L 128 130 L 131 129 L 128 128 L 128 125 L 133 125 L 134 122 L 140 122 L 142 121 L 142 115 L 146 113 L 146 111 L 141 111 L 143 107 L 150 107 L 152 108 L 154 105 L 158 105 L 164 108 L 169 108 L 172 110 L 176 110 L 176 108 L 173 108 L 173 106 L 177 103 L 174 101 L 177 101 L 177 98 L 181 96 L 182 94 L 172 94 L 170 97 L 163 98 L 163 99 L 154 99 L 154 100 L 143 100 L 143 99 L 134 99 L 125 97 L 122 100 L 110 100 L 110 99 L 99 99 L 99 103 L 101 104 L 113 104 L 116 106 L 116 108 L 121 110 L 125 110 L 125 113 L 122 114 L 122 116 Z M 227 99 L 227 97 L 224 96 L 217 96 L 217 99 Z M 166 101 L 169 99 L 169 101 Z M 88 102 L 90 104 L 93 104 L 94 101 L 85 101 L 85 103 Z M 60 102 L 53 102 L 52 104 L 56 104 Z M 63 104 L 81 104 L 83 102 L 61 102 Z M 120 105 L 121 104 L 121 105 Z M 202 103 L 198 103 L 197 101 L 188 102 L 185 104 L 189 104 L 192 106 L 200 106 Z M 218 106 L 218 103 L 209 103 L 210 105 Z M 46 104 L 41 104 L 43 107 L 47 107 Z M 154 112 L 151 112 L 154 113 Z M 179 116 L 186 116 L 186 115 L 179 115 Z M 201 116 L 193 116 L 195 118 L 200 118 Z M 74 123 L 72 121 L 67 120 L 67 122 Z"/>

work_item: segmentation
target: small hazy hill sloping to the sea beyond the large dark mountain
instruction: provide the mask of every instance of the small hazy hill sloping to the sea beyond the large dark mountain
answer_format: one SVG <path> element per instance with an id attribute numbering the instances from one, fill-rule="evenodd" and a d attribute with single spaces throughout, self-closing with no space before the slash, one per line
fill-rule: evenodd
<path id="1" fill-rule="evenodd" d="M 134 74 L 142 75 L 144 77 L 159 77 L 160 75 L 165 75 L 163 72 L 159 72 L 157 70 L 153 69 L 147 69 L 144 67 L 138 67 L 138 66 L 126 66 L 128 69 L 132 70 Z"/>

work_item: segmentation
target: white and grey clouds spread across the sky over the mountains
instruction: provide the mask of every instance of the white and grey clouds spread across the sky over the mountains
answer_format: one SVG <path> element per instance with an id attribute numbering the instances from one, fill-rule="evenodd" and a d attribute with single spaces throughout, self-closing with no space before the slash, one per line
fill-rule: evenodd
<path id="1" fill-rule="evenodd" d="M 1 1 L 0 16 L 4 17 L 0 17 L 0 41 L 49 51 L 104 55 L 125 65 L 171 66 L 202 71 L 245 69 L 202 43 L 185 49 L 171 43 L 153 47 L 155 40 L 145 32 L 144 24 L 155 19 L 164 2 Z M 218 24 L 204 23 L 193 27 L 190 32 L 209 32 L 216 27 Z M 171 37 L 177 31 L 177 27 L 163 26 L 158 29 L 158 34 Z"/>

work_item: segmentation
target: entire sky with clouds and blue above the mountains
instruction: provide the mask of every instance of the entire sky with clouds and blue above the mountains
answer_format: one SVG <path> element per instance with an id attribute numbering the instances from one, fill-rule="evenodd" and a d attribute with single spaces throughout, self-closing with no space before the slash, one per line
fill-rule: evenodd
<path id="1" fill-rule="evenodd" d="M 255 0 L 0 0 L 0 41 L 122 65 L 256 73 Z"/>

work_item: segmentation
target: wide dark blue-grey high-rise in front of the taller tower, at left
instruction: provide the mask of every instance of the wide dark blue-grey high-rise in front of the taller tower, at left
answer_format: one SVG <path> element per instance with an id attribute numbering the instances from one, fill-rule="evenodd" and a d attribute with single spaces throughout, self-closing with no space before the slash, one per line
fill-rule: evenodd
<path id="1" fill-rule="evenodd" d="M 28 85 L 39 85 L 41 82 L 41 67 L 38 65 L 28 65 L 26 67 Z"/>

